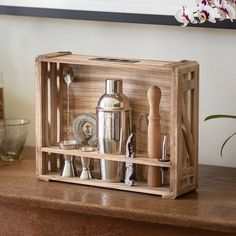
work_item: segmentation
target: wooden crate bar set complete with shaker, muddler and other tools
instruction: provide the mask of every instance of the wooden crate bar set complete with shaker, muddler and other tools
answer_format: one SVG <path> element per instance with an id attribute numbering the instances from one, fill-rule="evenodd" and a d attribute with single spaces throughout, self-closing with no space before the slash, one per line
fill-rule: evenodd
<path id="1" fill-rule="evenodd" d="M 36 59 L 37 176 L 176 198 L 197 188 L 198 64 Z"/>

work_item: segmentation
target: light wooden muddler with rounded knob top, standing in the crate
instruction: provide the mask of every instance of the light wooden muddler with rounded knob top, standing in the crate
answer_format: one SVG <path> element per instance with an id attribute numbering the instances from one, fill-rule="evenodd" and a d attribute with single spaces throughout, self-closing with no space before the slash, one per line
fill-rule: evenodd
<path id="1" fill-rule="evenodd" d="M 149 103 L 148 116 L 148 158 L 161 157 L 161 125 L 159 105 L 161 99 L 161 90 L 157 86 L 152 86 L 147 92 Z M 147 183 L 150 187 L 161 185 L 160 167 L 148 166 Z"/>

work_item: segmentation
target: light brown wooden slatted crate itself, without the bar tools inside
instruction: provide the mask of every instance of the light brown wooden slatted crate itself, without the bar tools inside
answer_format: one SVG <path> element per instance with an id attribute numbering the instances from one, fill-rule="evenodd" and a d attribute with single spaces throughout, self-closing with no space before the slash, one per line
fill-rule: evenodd
<path id="1" fill-rule="evenodd" d="M 170 185 L 148 187 L 143 181 L 134 186 L 107 183 L 100 179 L 81 180 L 62 177 L 63 154 L 89 156 L 126 162 L 123 155 L 101 155 L 97 151 L 62 150 L 57 142 L 66 135 L 66 84 L 62 71 L 72 68 L 72 117 L 96 114 L 99 97 L 104 94 L 106 79 L 122 79 L 123 91 L 133 108 L 133 131 L 138 132 L 136 157 L 142 173 L 147 166 L 168 167 Z M 120 60 L 73 55 L 59 52 L 36 58 L 36 158 L 37 176 L 44 181 L 106 187 L 112 189 L 161 195 L 174 199 L 197 188 L 198 180 L 198 101 L 199 65 L 194 61 Z M 161 132 L 168 134 L 170 162 L 147 158 L 147 123 L 149 112 L 147 90 L 156 85 L 161 89 Z M 144 118 L 144 119 L 140 119 Z M 95 161 L 96 162 L 96 161 Z M 145 179 L 145 178 L 144 178 Z"/>

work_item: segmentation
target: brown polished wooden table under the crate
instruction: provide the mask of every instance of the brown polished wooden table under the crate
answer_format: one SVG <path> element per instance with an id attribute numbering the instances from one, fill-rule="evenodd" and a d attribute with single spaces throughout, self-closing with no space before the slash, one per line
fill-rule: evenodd
<path id="1" fill-rule="evenodd" d="M 41 182 L 25 155 L 0 161 L 0 235 L 236 235 L 236 169 L 200 166 L 196 192 L 176 200 Z"/>

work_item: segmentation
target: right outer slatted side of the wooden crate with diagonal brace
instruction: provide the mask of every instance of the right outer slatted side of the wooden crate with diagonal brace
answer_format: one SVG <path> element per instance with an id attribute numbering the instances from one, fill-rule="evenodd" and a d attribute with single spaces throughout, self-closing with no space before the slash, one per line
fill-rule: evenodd
<path id="1" fill-rule="evenodd" d="M 180 81 L 189 83 L 189 87 L 180 87 L 182 114 L 182 141 L 178 153 L 177 196 L 197 188 L 198 158 L 198 65 L 179 70 Z M 197 74 L 195 74 L 197 73 Z M 196 140 L 197 139 L 197 140 Z M 189 169 L 188 174 L 186 174 Z M 185 172 L 185 173 L 184 173 Z"/>

